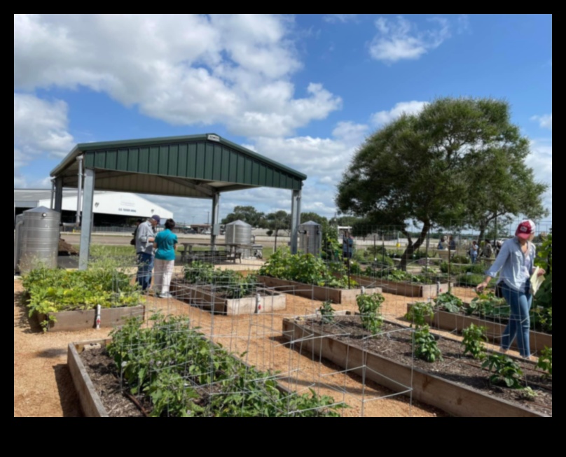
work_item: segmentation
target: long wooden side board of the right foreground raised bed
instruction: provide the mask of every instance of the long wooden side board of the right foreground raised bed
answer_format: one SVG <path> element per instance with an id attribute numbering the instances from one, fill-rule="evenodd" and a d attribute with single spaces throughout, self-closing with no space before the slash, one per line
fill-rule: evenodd
<path id="1" fill-rule="evenodd" d="M 303 325 L 304 319 L 284 319 L 283 335 L 290 342 L 300 342 L 302 349 L 312 351 L 317 358 L 326 358 L 344 370 L 355 369 L 354 372 L 364 379 L 371 379 L 394 392 L 412 395 L 413 399 L 448 414 L 460 417 L 546 417 L 341 342 Z"/>

